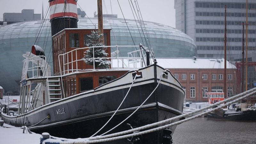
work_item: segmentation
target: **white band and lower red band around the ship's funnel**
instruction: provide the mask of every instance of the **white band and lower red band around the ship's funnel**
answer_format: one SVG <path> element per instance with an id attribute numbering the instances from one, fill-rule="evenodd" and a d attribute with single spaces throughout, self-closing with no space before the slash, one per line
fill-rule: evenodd
<path id="1" fill-rule="evenodd" d="M 50 19 L 58 17 L 75 17 L 77 18 L 77 6 L 76 4 L 67 4 L 64 12 L 65 4 L 54 4 L 50 6 Z"/>

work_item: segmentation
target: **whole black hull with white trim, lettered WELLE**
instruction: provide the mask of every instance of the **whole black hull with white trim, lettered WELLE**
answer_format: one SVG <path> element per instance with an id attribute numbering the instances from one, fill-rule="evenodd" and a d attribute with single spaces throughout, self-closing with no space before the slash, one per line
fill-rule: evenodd
<path id="1" fill-rule="evenodd" d="M 131 73 L 129 72 L 125 76 L 132 75 Z M 172 75 L 169 74 L 168 76 L 171 77 Z M 144 105 L 110 133 L 131 129 L 127 124 L 132 127 L 140 127 L 181 115 L 184 91 L 180 85 L 171 83 L 169 81 L 170 77 L 169 79 L 163 78 L 156 91 Z M 119 80 L 123 81 L 122 77 Z M 119 80 L 116 80 L 116 83 Z M 110 82 L 93 91 L 49 103 L 22 115 L 5 115 L 2 116 L 2 119 L 6 124 L 18 127 L 31 126 L 29 129 L 36 133 L 48 132 L 52 136 L 72 139 L 90 137 L 114 114 L 130 86 L 131 84 L 127 83 L 115 85 Z M 116 115 L 97 135 L 107 132 L 131 115 L 148 98 L 155 87 L 154 78 L 135 81 Z M 50 116 L 50 118 L 46 118 L 47 116 Z M 173 122 L 175 121 L 170 123 Z M 176 125 L 167 129 L 171 130 L 173 134 L 175 128 Z M 142 143 L 161 144 L 163 130 L 142 135 L 141 140 Z M 130 142 L 123 139 L 109 143 L 125 144 Z"/>

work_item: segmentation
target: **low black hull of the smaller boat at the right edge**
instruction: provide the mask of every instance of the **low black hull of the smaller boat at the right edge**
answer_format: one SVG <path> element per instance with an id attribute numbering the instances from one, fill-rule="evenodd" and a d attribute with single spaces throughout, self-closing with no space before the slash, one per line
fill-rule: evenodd
<path id="1" fill-rule="evenodd" d="M 224 113 L 224 116 L 218 116 L 214 113 L 209 113 L 206 115 L 209 119 L 217 120 L 231 120 L 231 121 L 256 121 L 256 111 L 247 110 L 247 111 L 238 111 L 234 110 L 233 113 Z"/>

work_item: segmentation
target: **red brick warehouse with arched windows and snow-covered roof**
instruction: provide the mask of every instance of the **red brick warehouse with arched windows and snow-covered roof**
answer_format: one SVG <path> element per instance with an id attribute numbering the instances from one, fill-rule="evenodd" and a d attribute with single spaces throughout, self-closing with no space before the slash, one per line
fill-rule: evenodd
<path id="1" fill-rule="evenodd" d="M 183 86 L 186 100 L 192 102 L 208 101 L 203 92 L 223 92 L 224 89 L 224 59 L 209 58 L 169 58 L 157 59 L 157 64 L 169 69 Z M 226 96 L 239 92 L 236 78 L 237 68 L 227 61 Z"/>

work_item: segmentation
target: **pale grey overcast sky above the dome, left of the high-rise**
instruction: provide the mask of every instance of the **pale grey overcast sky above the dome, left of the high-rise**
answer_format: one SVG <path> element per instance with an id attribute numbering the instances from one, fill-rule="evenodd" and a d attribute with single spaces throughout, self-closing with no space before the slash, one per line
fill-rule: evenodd
<path id="1" fill-rule="evenodd" d="M 129 0 L 134 4 L 134 0 Z M 134 19 L 128 0 L 119 0 L 119 4 L 124 13 L 125 19 Z M 175 28 L 174 0 L 136 0 L 140 7 L 140 12 L 144 21 L 152 21 Z M 3 20 L 4 12 L 21 13 L 22 9 L 34 9 L 34 13 L 42 14 L 42 4 L 44 13 L 49 4 L 48 0 L 0 0 L 0 21 Z M 97 0 L 78 0 L 77 7 L 82 8 L 88 17 L 93 17 L 93 12 L 97 12 Z M 102 0 L 103 13 L 111 14 L 110 0 Z M 106 6 L 105 6 L 106 5 Z M 118 18 L 123 18 L 117 0 L 111 0 L 112 13 Z"/>

